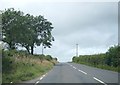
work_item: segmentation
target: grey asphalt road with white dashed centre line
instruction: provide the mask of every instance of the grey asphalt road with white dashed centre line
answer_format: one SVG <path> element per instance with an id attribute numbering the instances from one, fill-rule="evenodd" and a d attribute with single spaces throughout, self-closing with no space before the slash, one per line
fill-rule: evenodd
<path id="1" fill-rule="evenodd" d="M 75 63 L 58 63 L 35 83 L 118 83 L 118 73 Z"/>

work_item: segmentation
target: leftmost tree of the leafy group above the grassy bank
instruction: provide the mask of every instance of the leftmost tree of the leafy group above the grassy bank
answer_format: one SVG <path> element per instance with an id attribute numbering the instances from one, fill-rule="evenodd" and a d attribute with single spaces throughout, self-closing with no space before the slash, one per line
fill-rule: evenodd
<path id="1" fill-rule="evenodd" d="M 17 32 L 18 32 L 18 17 L 22 15 L 22 12 L 15 11 L 13 8 L 5 10 L 2 13 L 2 33 L 3 41 L 9 45 L 9 49 L 16 48 Z"/>

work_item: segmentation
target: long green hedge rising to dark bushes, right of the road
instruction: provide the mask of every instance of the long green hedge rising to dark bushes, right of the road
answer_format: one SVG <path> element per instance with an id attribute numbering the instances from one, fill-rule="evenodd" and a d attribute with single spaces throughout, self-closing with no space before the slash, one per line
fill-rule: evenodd
<path id="1" fill-rule="evenodd" d="M 118 67 L 120 65 L 120 46 L 110 47 L 109 50 L 104 54 L 95 55 L 80 55 L 79 57 L 73 57 L 75 63 L 83 63 L 90 65 L 108 65 Z"/>

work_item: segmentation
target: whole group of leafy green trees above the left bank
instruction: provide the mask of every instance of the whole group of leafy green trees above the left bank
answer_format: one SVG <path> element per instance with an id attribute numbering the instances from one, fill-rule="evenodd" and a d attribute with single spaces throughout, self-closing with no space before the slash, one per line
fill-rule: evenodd
<path id="1" fill-rule="evenodd" d="M 14 8 L 2 13 L 2 41 L 8 44 L 9 50 L 22 46 L 33 54 L 35 46 L 50 48 L 54 41 L 52 29 L 52 23 L 41 15 L 24 14 Z"/>

